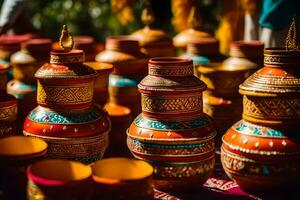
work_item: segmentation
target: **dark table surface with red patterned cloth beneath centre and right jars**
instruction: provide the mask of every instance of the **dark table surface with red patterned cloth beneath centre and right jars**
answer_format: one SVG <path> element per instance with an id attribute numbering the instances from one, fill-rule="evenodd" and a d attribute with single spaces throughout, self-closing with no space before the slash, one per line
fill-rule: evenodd
<path id="1" fill-rule="evenodd" d="M 300 180 L 299 180 L 300 182 Z M 155 199 L 161 200 L 179 200 L 179 199 L 202 199 L 202 200 L 300 200 L 300 195 L 297 193 L 300 185 L 294 186 L 289 191 L 274 189 L 268 192 L 261 192 L 258 194 L 250 194 L 243 191 L 239 185 L 231 181 L 223 171 L 220 154 L 216 154 L 215 171 L 211 178 L 209 178 L 203 187 L 198 190 L 184 193 L 176 192 L 162 192 L 155 190 Z"/>

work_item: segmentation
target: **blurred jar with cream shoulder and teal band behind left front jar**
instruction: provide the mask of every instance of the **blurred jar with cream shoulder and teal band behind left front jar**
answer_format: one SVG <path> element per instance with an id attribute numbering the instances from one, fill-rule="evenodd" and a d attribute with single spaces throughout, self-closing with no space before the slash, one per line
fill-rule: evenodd
<path id="1" fill-rule="evenodd" d="M 8 82 L 7 92 L 18 99 L 20 121 L 24 121 L 28 113 L 37 105 L 34 73 L 49 61 L 50 50 L 50 39 L 30 39 L 23 42 L 21 50 L 12 54 L 10 58 L 14 80 Z"/>

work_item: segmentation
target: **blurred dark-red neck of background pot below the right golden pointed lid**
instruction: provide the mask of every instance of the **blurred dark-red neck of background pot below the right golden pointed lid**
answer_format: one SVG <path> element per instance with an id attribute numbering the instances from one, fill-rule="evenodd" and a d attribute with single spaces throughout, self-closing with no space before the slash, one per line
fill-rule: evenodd
<path id="1" fill-rule="evenodd" d="M 205 38 L 187 44 L 187 53 L 195 55 L 218 55 L 219 41 L 215 38 Z"/>

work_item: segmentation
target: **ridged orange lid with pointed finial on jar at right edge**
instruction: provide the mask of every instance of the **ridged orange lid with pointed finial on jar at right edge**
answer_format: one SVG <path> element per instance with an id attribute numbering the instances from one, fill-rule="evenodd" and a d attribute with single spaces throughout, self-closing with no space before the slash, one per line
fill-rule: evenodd
<path id="1" fill-rule="evenodd" d="M 286 47 L 266 48 L 265 66 L 240 85 L 240 93 L 249 96 L 286 96 L 300 93 L 300 51 L 293 20 Z"/>

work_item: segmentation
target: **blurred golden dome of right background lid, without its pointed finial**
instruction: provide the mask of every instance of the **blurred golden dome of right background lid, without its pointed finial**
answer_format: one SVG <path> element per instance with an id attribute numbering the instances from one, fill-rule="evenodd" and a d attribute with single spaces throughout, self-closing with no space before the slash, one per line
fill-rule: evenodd
<path id="1" fill-rule="evenodd" d="M 187 30 L 184 30 L 180 33 L 178 33 L 173 38 L 173 44 L 176 48 L 186 50 L 186 47 L 189 43 L 198 41 L 201 39 L 207 39 L 211 38 L 212 36 L 206 32 L 203 32 L 201 30 L 197 30 L 194 28 L 189 28 Z"/>

